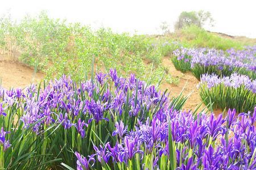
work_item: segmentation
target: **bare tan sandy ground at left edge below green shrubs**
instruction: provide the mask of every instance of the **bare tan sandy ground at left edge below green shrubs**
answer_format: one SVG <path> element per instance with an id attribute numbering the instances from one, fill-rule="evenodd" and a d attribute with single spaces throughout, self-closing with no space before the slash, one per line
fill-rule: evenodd
<path id="1" fill-rule="evenodd" d="M 30 67 L 26 67 L 21 63 L 0 59 L 0 79 L 2 87 L 7 89 L 11 87 L 24 88 L 44 78 L 43 73 L 36 73 L 35 78 L 33 78 L 33 75 L 34 70 Z"/>

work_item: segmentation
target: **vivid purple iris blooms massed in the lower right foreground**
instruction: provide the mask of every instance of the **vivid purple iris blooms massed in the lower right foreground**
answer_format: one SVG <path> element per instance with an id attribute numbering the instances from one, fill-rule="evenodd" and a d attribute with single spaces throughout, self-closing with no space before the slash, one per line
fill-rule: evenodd
<path id="1" fill-rule="evenodd" d="M 119 136 L 121 140 L 108 142 L 105 146 L 94 146 L 96 154 L 89 156 L 90 160 L 97 158 L 101 163 L 127 164 L 135 155 L 139 155 L 142 162 L 145 156 L 153 154 L 150 157 L 154 159 L 153 168 L 158 169 L 159 160 L 170 154 L 168 117 L 176 146 L 177 169 L 256 168 L 256 108 L 252 116 L 250 113 L 236 116 L 235 110 L 229 110 L 226 117 L 201 113 L 196 118 L 190 112 L 165 108 L 156 113 L 152 120 L 148 119 L 144 124 L 139 122 L 134 131 L 124 136 L 123 127 L 119 128 L 122 125 L 120 122 L 116 124 L 114 134 L 122 134 Z M 77 158 L 81 159 L 80 156 Z M 80 167 L 80 164 L 82 162 L 78 161 L 77 166 Z M 84 167 L 87 164 L 86 161 Z M 142 169 L 143 166 L 142 162 Z"/>

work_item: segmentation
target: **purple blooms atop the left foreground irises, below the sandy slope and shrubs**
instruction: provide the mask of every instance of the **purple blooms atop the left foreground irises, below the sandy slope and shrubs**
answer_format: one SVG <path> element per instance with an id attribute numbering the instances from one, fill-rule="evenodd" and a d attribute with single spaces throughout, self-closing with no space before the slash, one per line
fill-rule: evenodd
<path id="1" fill-rule="evenodd" d="M 109 86 L 113 84 L 112 91 L 104 87 L 106 83 Z M 46 125 L 59 123 L 64 129 L 75 126 L 81 137 L 85 137 L 85 129 L 90 122 L 95 121 L 98 124 L 102 120 L 109 121 L 106 113 L 111 111 L 121 115 L 127 101 L 129 115 L 132 117 L 138 116 L 143 108 L 150 110 L 159 103 L 163 107 L 168 100 L 167 95 L 160 94 L 154 86 L 146 87 L 146 83 L 135 78 L 133 74 L 125 79 L 119 77 L 113 69 L 110 69 L 109 74 L 96 74 L 94 82 L 88 80 L 76 84 L 70 77 L 63 75 L 39 91 L 35 85 L 27 87 L 26 95 L 20 90 L 4 93 L 5 99 L 0 103 L 0 114 L 3 116 L 6 115 L 3 103 L 7 107 L 22 100 L 20 107 L 25 113 L 21 117 L 24 128 L 35 124 L 34 131 L 41 133 Z M 127 93 L 130 94 L 129 99 L 126 99 Z"/>

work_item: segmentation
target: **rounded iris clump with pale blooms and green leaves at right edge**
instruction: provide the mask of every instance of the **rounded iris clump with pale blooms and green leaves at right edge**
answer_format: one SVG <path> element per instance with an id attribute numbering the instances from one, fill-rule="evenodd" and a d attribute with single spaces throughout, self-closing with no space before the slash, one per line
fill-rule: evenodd
<path id="1" fill-rule="evenodd" d="M 253 111 L 256 104 L 256 80 L 237 73 L 223 78 L 216 74 L 201 75 L 200 96 L 214 108 L 235 108 L 238 112 Z"/>

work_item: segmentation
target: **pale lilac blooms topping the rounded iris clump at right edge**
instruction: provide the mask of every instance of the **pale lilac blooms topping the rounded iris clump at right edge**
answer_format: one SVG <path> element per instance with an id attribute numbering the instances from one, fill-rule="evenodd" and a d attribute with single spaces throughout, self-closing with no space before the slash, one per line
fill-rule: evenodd
<path id="1" fill-rule="evenodd" d="M 215 87 L 219 84 L 224 84 L 226 87 L 238 88 L 244 86 L 245 89 L 256 94 L 256 80 L 251 80 L 249 76 L 233 73 L 230 76 L 219 78 L 216 74 L 201 75 L 201 82 L 206 83 L 208 88 Z"/>

